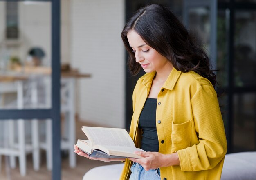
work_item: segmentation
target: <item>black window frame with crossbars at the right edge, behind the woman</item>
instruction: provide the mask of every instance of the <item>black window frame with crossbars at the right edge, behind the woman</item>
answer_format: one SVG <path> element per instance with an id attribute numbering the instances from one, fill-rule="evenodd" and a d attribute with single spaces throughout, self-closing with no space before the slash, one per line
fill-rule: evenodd
<path id="1" fill-rule="evenodd" d="M 219 0 L 220 1 L 220 0 Z M 234 96 L 236 94 L 242 93 L 255 93 L 256 86 L 252 85 L 249 87 L 236 87 L 234 85 L 234 34 L 235 34 L 235 14 L 237 10 L 247 10 L 256 11 L 255 2 L 236 2 L 236 0 L 229 0 L 228 2 L 218 2 L 218 9 L 229 10 L 228 25 L 227 25 L 227 75 L 228 75 L 228 85 L 223 87 L 225 93 L 227 94 L 227 153 L 234 153 Z M 222 92 L 220 92 L 222 93 Z M 256 112 L 256 111 L 255 111 Z M 256 123 L 254 125 L 256 129 Z M 254 139 L 256 144 L 256 131 L 254 132 Z M 254 149 L 255 150 L 255 149 Z M 247 149 L 245 151 L 248 151 Z"/>

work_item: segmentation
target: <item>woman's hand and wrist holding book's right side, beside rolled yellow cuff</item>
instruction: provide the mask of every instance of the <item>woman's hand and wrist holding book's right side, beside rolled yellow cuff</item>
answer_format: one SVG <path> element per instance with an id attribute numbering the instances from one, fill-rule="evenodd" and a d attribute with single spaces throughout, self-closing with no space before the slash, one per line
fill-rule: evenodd
<path id="1" fill-rule="evenodd" d="M 168 167 L 180 165 L 178 153 L 161 154 L 158 152 L 135 151 L 135 153 L 143 158 L 128 158 L 133 162 L 139 163 L 146 171 L 157 169 L 159 167 Z"/>

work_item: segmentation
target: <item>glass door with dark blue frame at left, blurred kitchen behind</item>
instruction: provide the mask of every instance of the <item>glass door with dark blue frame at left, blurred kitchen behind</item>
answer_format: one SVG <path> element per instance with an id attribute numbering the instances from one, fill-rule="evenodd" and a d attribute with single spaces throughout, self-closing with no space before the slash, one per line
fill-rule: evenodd
<path id="1" fill-rule="evenodd" d="M 52 179 L 60 180 L 60 0 L 0 0 L 0 136 L 17 136 L 20 162 L 27 151 L 27 122 L 33 126 L 43 119 L 51 127 Z M 10 145 L 1 146 L 7 140 L 0 142 L 0 156 L 16 154 L 8 151 Z"/>

